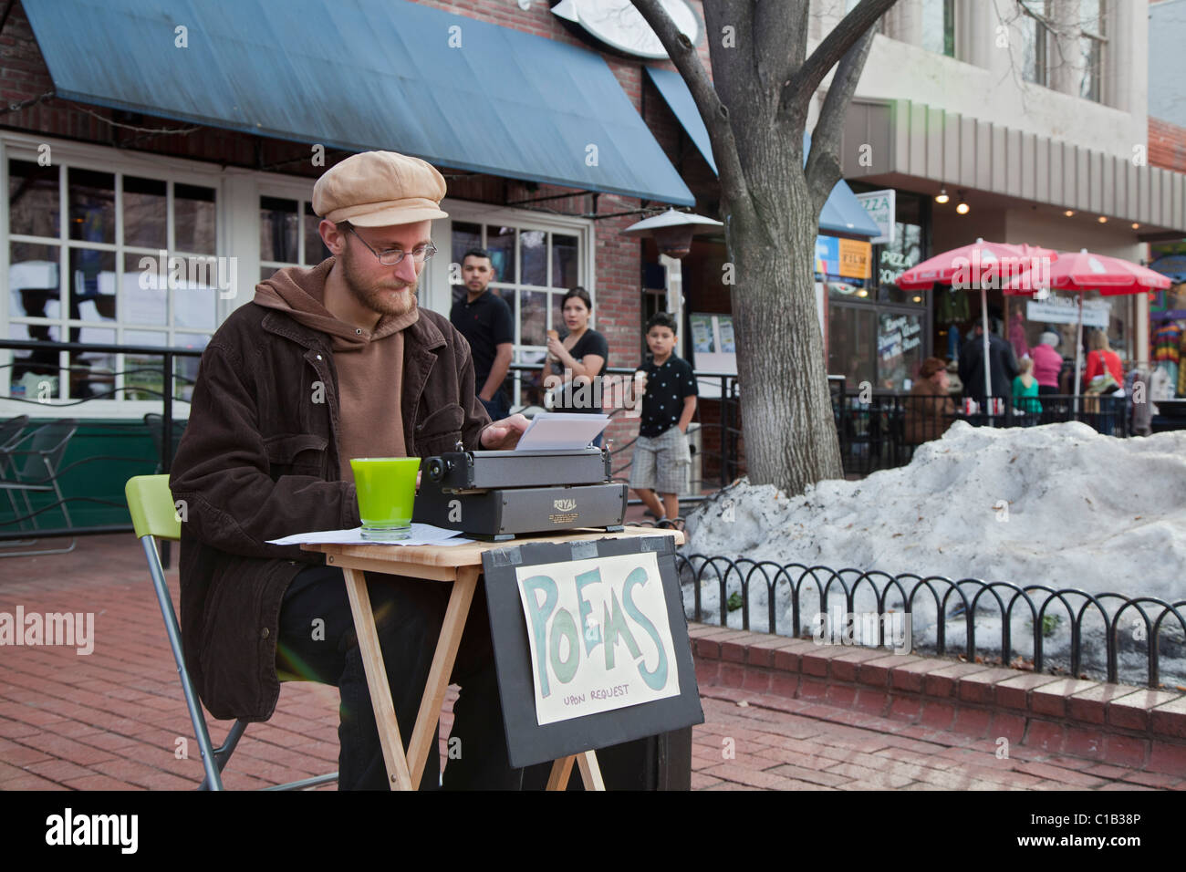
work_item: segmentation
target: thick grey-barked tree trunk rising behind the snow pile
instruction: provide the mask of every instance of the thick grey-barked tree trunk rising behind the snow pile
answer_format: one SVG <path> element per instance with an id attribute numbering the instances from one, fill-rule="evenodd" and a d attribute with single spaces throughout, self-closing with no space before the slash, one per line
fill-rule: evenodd
<path id="1" fill-rule="evenodd" d="M 659 0 L 633 0 L 688 83 L 721 180 L 746 466 L 788 494 L 843 476 L 815 299 L 820 210 L 842 178 L 840 136 L 895 0 L 861 0 L 810 57 L 808 0 L 706 0 L 713 78 Z M 835 68 L 803 161 L 810 103 Z"/>

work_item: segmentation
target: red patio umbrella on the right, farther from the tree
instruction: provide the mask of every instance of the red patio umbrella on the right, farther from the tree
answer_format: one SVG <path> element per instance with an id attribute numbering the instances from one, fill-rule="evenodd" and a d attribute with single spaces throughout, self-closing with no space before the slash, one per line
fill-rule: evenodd
<path id="1" fill-rule="evenodd" d="M 1075 393 L 1079 393 L 1079 368 L 1083 348 L 1083 294 L 1098 291 L 1104 297 L 1137 294 L 1146 291 L 1163 291 L 1169 287 L 1168 276 L 1147 267 L 1105 254 L 1092 254 L 1085 248 L 1077 253 L 1064 252 L 1058 262 L 1050 267 L 1048 275 L 1033 270 L 1014 278 L 1005 285 L 1007 294 L 1034 295 L 1050 288 L 1076 291 L 1079 294 L 1079 326 L 1075 343 Z M 1075 407 L 1078 412 L 1079 401 Z"/>

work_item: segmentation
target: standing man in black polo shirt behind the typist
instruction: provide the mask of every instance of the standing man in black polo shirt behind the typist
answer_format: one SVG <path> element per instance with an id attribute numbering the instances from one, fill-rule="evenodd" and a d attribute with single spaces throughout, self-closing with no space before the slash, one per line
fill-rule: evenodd
<path id="1" fill-rule="evenodd" d="M 490 253 L 484 248 L 466 252 L 461 259 L 466 298 L 453 304 L 448 319 L 473 352 L 473 383 L 478 386 L 478 399 L 490 413 L 490 420 L 500 421 L 510 414 L 503 380 L 515 350 L 515 323 L 506 301 L 486 291 L 493 279 Z"/>

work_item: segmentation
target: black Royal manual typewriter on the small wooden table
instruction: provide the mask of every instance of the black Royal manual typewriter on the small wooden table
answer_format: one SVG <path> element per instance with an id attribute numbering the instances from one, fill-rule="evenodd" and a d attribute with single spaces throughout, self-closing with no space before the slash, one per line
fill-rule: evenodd
<path id="1" fill-rule="evenodd" d="M 621 529 L 626 485 L 606 448 L 458 451 L 426 457 L 413 521 L 502 542 L 524 533 Z"/>

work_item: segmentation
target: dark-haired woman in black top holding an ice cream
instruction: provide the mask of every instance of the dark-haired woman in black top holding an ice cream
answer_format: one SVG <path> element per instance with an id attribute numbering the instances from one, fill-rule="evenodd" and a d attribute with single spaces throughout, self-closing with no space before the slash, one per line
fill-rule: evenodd
<path id="1" fill-rule="evenodd" d="M 565 294 L 563 316 L 568 333 L 563 338 L 548 336 L 551 375 L 544 386 L 553 388 L 553 412 L 602 414 L 601 374 L 608 364 L 610 343 L 589 327 L 593 301 L 588 291 L 574 287 Z M 600 437 L 597 444 L 600 444 Z"/>

